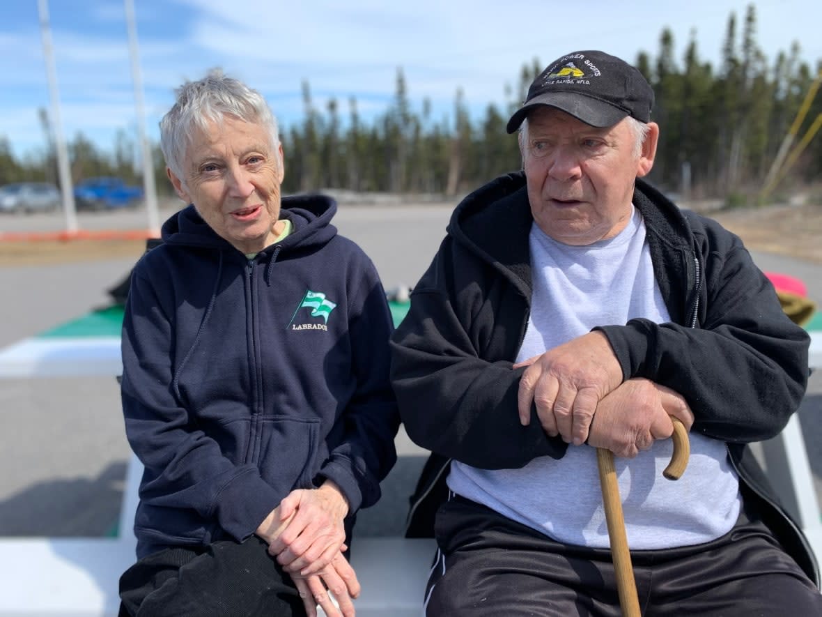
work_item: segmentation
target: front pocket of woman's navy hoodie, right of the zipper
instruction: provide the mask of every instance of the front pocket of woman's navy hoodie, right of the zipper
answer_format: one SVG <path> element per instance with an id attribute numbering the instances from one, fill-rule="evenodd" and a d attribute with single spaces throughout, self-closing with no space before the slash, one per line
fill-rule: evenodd
<path id="1" fill-rule="evenodd" d="M 257 419 L 256 448 L 250 460 L 266 483 L 285 497 L 293 489 L 307 489 L 319 471 L 316 464 L 319 418 L 263 415 Z"/>

